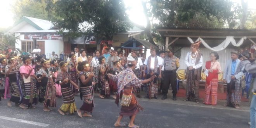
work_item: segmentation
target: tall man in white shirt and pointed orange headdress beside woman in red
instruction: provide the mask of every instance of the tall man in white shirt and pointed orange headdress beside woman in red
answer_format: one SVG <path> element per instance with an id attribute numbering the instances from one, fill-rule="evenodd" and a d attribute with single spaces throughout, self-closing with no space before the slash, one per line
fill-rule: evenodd
<path id="1" fill-rule="evenodd" d="M 184 101 L 194 100 L 199 104 L 199 83 L 202 71 L 202 53 L 199 51 L 201 41 L 197 41 L 190 46 L 191 52 L 187 53 L 185 64 L 187 65 L 187 86 L 186 98 Z"/>

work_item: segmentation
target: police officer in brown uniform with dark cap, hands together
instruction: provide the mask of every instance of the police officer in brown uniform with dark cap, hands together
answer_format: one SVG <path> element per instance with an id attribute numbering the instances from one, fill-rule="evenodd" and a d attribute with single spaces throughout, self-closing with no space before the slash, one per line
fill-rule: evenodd
<path id="1" fill-rule="evenodd" d="M 169 86 L 173 90 L 173 100 L 176 100 L 177 88 L 176 88 L 176 70 L 180 67 L 180 60 L 173 55 L 173 50 L 167 50 L 167 55 L 164 58 L 164 85 L 162 88 L 163 98 L 167 98 Z"/>

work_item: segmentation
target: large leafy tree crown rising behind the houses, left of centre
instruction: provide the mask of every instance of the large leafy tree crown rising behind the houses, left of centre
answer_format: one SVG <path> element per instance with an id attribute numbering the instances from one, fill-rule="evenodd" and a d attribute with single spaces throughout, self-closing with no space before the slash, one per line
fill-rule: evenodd
<path id="1" fill-rule="evenodd" d="M 90 31 L 111 39 L 131 25 L 121 0 L 47 0 L 47 12 L 55 12 L 50 20 L 70 32 Z"/>

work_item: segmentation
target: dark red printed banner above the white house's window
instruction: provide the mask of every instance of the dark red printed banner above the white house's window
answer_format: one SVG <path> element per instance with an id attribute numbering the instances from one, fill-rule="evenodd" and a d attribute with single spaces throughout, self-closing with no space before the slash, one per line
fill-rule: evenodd
<path id="1" fill-rule="evenodd" d="M 62 40 L 62 34 L 57 33 L 25 33 L 25 40 Z"/>

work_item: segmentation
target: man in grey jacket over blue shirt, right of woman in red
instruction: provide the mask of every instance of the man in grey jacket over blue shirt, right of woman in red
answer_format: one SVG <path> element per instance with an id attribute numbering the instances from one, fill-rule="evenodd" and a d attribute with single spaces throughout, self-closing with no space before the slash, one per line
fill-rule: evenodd
<path id="1" fill-rule="evenodd" d="M 244 75 L 244 64 L 238 59 L 239 52 L 232 51 L 231 59 L 227 61 L 223 80 L 227 83 L 227 104 L 225 106 L 239 108 L 241 102 L 240 80 Z"/>

